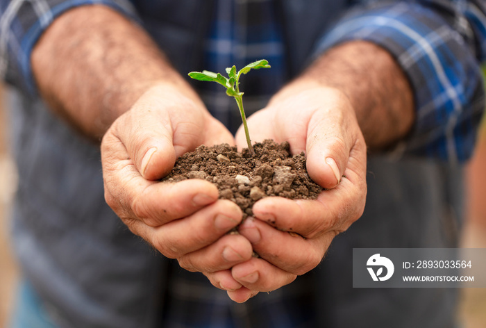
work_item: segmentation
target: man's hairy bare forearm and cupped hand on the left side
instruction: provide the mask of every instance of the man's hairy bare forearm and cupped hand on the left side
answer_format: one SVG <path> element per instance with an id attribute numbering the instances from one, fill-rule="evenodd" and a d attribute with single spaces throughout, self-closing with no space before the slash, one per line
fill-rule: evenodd
<path id="1" fill-rule="evenodd" d="M 104 136 L 106 200 L 131 231 L 191 271 L 251 257 L 246 238 L 226 236 L 240 208 L 217 200 L 212 183 L 158 181 L 185 151 L 234 141 L 140 26 L 105 6 L 74 8 L 37 42 L 32 67 L 53 113 Z"/>

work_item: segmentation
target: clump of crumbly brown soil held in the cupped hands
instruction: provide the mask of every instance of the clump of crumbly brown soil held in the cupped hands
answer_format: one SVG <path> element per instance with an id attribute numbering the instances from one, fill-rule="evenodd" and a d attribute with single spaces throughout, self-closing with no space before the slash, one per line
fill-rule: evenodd
<path id="1" fill-rule="evenodd" d="M 239 153 L 228 144 L 200 146 L 180 156 L 174 169 L 162 181 L 205 179 L 215 183 L 219 198 L 235 202 L 244 213 L 258 199 L 280 196 L 290 199 L 316 199 L 322 188 L 312 181 L 305 168 L 303 153 L 291 156 L 288 142 L 265 140 Z M 243 218 L 243 219 L 244 219 Z"/>

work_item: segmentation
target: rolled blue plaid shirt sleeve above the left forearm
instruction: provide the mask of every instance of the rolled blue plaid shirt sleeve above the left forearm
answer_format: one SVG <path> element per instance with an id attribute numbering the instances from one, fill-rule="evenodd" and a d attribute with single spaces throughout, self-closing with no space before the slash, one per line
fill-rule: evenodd
<path id="1" fill-rule="evenodd" d="M 0 76 L 3 81 L 34 95 L 31 71 L 35 42 L 53 20 L 77 6 L 109 6 L 126 17 L 136 18 L 128 0 L 0 0 Z"/>

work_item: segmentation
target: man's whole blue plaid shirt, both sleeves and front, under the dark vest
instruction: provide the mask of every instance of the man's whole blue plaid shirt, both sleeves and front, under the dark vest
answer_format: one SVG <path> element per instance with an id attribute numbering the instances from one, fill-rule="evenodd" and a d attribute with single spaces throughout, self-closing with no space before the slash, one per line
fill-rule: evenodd
<path id="1" fill-rule="evenodd" d="M 340 19 L 319 40 L 315 56 L 346 40 L 380 44 L 397 58 L 415 90 L 417 122 L 396 151 L 452 162 L 468 158 L 484 108 L 478 63 L 486 59 L 486 5 L 440 0 L 386 6 L 377 6 L 379 1 L 354 2 L 365 6 Z M 123 0 L 0 1 L 0 74 L 6 81 L 26 93 L 35 92 L 30 67 L 35 41 L 54 17 L 85 3 L 103 3 L 137 17 Z M 275 6 L 271 0 L 216 1 L 204 68 L 224 72 L 230 65 L 240 68 L 260 58 L 272 66 L 244 76 L 248 114 L 265 106 L 287 81 L 283 23 Z M 143 22 L 144 17 L 135 19 Z M 468 48 L 471 51 L 465 51 Z M 240 117 L 234 101 L 216 83 L 199 83 L 198 88 L 211 113 L 235 131 Z M 312 272 L 269 295 L 260 293 L 245 304 L 235 304 L 206 277 L 171 263 L 169 301 L 161 309 L 163 327 L 316 327 Z"/>

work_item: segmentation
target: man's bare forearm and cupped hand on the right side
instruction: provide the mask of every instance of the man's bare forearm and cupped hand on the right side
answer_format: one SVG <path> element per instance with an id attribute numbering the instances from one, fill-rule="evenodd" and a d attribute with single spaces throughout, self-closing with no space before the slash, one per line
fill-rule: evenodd
<path id="1" fill-rule="evenodd" d="M 288 141 L 292 153 L 305 151 L 310 177 L 327 190 L 315 201 L 268 197 L 255 203 L 255 218 L 240 233 L 261 259 L 218 277 L 242 284 L 228 295 L 242 302 L 315 268 L 333 238 L 362 215 L 367 149 L 393 145 L 413 122 L 412 90 L 401 68 L 384 49 L 360 41 L 330 49 L 252 115 L 253 140 Z M 244 147 L 241 129 L 237 145 Z"/>

